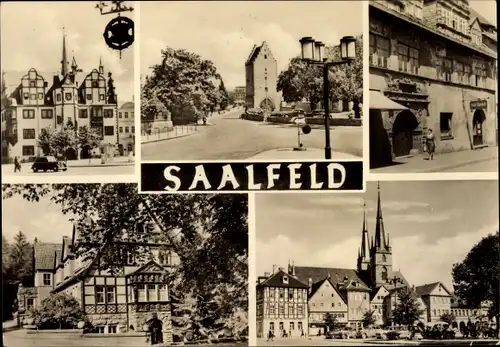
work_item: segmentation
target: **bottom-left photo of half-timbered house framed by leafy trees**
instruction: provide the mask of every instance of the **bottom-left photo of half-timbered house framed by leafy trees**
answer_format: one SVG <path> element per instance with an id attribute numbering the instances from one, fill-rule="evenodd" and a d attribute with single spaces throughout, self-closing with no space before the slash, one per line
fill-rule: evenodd
<path id="1" fill-rule="evenodd" d="M 4 346 L 248 345 L 247 195 L 2 188 Z"/>

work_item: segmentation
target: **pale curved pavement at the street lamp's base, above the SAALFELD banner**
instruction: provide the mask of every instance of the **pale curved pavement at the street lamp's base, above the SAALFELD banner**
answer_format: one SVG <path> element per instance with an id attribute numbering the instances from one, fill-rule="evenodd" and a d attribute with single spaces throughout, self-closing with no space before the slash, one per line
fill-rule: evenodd
<path id="1" fill-rule="evenodd" d="M 293 148 L 280 148 L 261 152 L 248 158 L 258 160 L 324 160 L 325 151 L 318 148 L 307 148 L 305 151 L 294 151 Z M 363 160 L 361 157 L 349 153 L 332 151 L 332 160 Z"/>

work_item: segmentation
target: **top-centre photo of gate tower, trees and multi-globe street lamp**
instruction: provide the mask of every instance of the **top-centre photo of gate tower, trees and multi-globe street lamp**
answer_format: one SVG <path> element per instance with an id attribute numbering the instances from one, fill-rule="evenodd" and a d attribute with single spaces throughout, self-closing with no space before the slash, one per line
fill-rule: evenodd
<path id="1" fill-rule="evenodd" d="M 361 160 L 364 7 L 141 3 L 141 161 Z"/>

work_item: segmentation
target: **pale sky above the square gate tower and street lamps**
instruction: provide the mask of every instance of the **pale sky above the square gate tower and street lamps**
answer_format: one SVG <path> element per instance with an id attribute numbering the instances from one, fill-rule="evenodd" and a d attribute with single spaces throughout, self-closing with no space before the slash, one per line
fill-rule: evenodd
<path id="1" fill-rule="evenodd" d="M 300 54 L 299 39 L 338 45 L 360 35 L 361 1 L 206 1 L 141 3 L 141 74 L 172 47 L 213 61 L 226 88 L 245 85 L 245 61 L 267 41 L 278 71 Z"/>

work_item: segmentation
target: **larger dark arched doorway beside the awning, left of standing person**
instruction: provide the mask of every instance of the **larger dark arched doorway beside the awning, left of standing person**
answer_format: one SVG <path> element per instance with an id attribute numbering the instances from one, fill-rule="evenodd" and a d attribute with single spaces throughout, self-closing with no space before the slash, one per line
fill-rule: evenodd
<path id="1" fill-rule="evenodd" d="M 401 111 L 392 126 L 392 151 L 396 157 L 409 155 L 413 148 L 413 130 L 418 121 L 410 110 Z"/>

